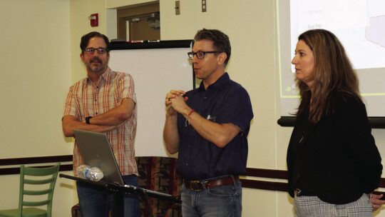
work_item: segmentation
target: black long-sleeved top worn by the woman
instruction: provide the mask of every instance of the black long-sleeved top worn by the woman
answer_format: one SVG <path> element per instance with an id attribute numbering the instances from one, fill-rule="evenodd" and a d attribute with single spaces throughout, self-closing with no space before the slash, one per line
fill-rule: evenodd
<path id="1" fill-rule="evenodd" d="M 381 156 L 361 99 L 336 92 L 331 106 L 314 126 L 309 106 L 297 116 L 287 150 L 289 194 L 299 188 L 327 203 L 351 203 L 379 186 Z"/>

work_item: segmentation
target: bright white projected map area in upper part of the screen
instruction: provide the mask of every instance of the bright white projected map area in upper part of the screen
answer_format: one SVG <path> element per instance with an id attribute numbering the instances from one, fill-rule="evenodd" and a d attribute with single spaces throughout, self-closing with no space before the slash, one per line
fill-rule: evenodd
<path id="1" fill-rule="evenodd" d="M 292 51 L 302 32 L 327 29 L 342 41 L 355 69 L 385 67 L 385 1 L 292 0 L 290 9 Z"/>

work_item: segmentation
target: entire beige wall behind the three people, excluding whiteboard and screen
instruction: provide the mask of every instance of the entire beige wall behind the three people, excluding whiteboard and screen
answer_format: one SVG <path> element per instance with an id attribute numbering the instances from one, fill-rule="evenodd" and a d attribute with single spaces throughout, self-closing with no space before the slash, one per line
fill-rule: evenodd
<path id="1" fill-rule="evenodd" d="M 89 31 L 116 37 L 115 8 L 145 4 L 144 0 L 4 0 L 1 28 L 1 158 L 71 154 L 72 141 L 61 133 L 60 117 L 68 87 L 86 76 L 79 58 L 80 38 Z M 241 3 L 240 3 L 241 2 Z M 247 166 L 286 169 L 286 149 L 292 128 L 277 125 L 277 30 L 274 0 L 160 0 L 161 39 L 192 39 L 198 29 L 220 29 L 230 36 L 230 77 L 247 89 L 255 118 L 249 134 Z M 99 14 L 99 26 L 88 16 Z M 172 88 L 172 87 L 170 87 Z M 385 156 L 383 129 L 373 132 Z M 71 172 L 68 172 L 71 174 Z M 274 181 L 274 180 L 270 180 Z M 0 208 L 16 206 L 18 176 L 0 176 Z M 76 203 L 73 182 L 58 178 L 54 216 L 69 216 Z M 384 190 L 382 190 L 384 191 Z M 243 216 L 292 216 L 287 193 L 244 189 Z M 377 216 L 385 216 L 385 211 Z"/>

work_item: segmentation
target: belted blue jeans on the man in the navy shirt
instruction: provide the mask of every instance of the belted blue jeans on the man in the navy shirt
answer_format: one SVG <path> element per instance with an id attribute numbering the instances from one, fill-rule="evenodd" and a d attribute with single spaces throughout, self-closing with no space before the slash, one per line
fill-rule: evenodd
<path id="1" fill-rule="evenodd" d="M 183 217 L 242 216 L 241 182 L 193 191 L 182 186 Z"/>

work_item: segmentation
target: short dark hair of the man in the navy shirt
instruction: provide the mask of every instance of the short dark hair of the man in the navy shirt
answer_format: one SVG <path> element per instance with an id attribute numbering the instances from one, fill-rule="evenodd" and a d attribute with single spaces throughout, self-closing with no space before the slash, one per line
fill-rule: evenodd
<path id="1" fill-rule="evenodd" d="M 225 52 L 227 54 L 227 58 L 225 60 L 226 67 L 231 55 L 229 36 L 217 29 L 201 29 L 197 31 L 197 34 L 195 34 L 194 40 L 200 41 L 203 39 L 212 41 L 212 45 L 215 49 L 217 49 L 217 51 Z"/>

